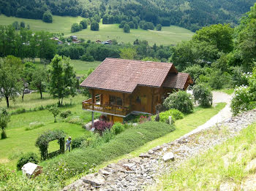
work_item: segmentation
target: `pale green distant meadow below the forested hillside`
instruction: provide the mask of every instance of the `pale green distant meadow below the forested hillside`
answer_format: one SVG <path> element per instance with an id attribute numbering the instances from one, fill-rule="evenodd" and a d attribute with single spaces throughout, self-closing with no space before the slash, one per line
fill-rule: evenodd
<path id="1" fill-rule="evenodd" d="M 122 28 L 118 28 L 118 24 L 103 25 L 99 24 L 99 31 L 91 31 L 90 27 L 79 31 L 77 33 L 71 33 L 70 28 L 72 23 L 79 23 L 82 17 L 61 17 L 53 16 L 53 23 L 44 23 L 42 20 L 24 19 L 18 17 L 6 17 L 0 15 L 0 25 L 10 25 L 15 20 L 18 22 L 24 21 L 29 24 L 33 31 L 50 31 L 53 33 L 64 33 L 65 36 L 76 35 L 78 38 L 91 39 L 96 41 L 97 39 L 105 41 L 107 39 L 116 39 L 118 42 L 134 42 L 135 39 L 147 40 L 149 44 L 177 44 L 178 42 L 191 39 L 193 33 L 186 28 L 178 26 L 162 27 L 162 31 L 145 31 L 142 29 L 131 29 L 129 34 L 123 32 Z"/>

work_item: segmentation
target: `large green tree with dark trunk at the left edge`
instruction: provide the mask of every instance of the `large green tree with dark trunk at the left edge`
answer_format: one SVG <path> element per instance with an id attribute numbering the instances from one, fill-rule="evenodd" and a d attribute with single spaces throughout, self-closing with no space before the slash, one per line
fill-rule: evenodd
<path id="1" fill-rule="evenodd" d="M 22 71 L 20 58 L 8 55 L 0 60 L 0 97 L 6 99 L 8 108 L 10 99 L 15 100 L 23 86 Z"/>

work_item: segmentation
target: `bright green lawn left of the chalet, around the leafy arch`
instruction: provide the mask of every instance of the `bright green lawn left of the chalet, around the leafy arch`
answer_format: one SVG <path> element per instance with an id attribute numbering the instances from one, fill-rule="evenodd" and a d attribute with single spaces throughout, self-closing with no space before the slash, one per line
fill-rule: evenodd
<path id="1" fill-rule="evenodd" d="M 41 100 L 39 93 L 31 93 L 25 95 L 24 101 L 21 101 L 19 97 L 15 104 L 10 102 L 9 110 L 10 112 L 18 108 L 33 110 L 38 106 L 57 103 L 57 100 L 51 98 L 48 93 L 45 93 L 44 96 L 45 98 Z M 77 95 L 72 98 L 72 105 L 70 105 L 70 99 L 65 98 L 64 104 L 66 104 L 66 106 L 60 108 L 61 112 L 70 110 L 74 117 L 78 116 L 83 122 L 89 122 L 91 120 L 91 112 L 82 110 L 81 102 L 84 99 L 86 98 L 83 97 L 83 95 Z M 4 100 L 0 102 L 0 107 L 2 106 L 5 106 Z M 96 117 L 98 117 L 98 114 L 96 114 Z M 35 147 L 34 144 L 39 134 L 45 130 L 62 129 L 67 133 L 67 136 L 72 136 L 72 138 L 81 136 L 83 133 L 89 133 L 87 130 L 84 130 L 81 125 L 63 122 L 59 117 L 58 122 L 55 123 L 53 121 L 53 114 L 48 112 L 47 109 L 13 114 L 6 130 L 8 138 L 0 139 L 0 163 L 6 163 L 10 168 L 15 168 L 20 154 L 26 152 L 37 152 L 39 154 L 39 149 Z M 26 130 L 26 128 L 29 128 L 31 122 L 43 122 L 45 126 L 33 130 Z M 58 144 L 50 145 L 49 149 L 50 151 L 58 149 Z"/>

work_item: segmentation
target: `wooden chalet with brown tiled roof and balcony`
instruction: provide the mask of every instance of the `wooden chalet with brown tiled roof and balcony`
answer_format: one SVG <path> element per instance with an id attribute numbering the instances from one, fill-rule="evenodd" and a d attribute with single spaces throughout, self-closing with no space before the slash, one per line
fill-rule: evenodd
<path id="1" fill-rule="evenodd" d="M 178 72 L 173 63 L 106 58 L 80 86 L 91 93 L 83 109 L 123 122 L 131 113 L 155 114 L 168 93 L 186 90 L 189 84 L 189 74 Z"/>

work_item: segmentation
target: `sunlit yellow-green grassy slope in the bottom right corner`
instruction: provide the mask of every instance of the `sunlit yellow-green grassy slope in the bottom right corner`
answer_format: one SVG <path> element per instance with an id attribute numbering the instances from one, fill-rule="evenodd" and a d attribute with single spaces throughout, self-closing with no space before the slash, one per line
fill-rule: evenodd
<path id="1" fill-rule="evenodd" d="M 157 186 L 150 190 L 219 190 L 221 184 L 233 184 L 232 190 L 241 190 L 241 183 L 255 174 L 255 165 L 252 171 L 246 170 L 246 165 L 255 160 L 255 142 L 256 124 L 253 124 L 236 138 L 160 177 Z"/>

